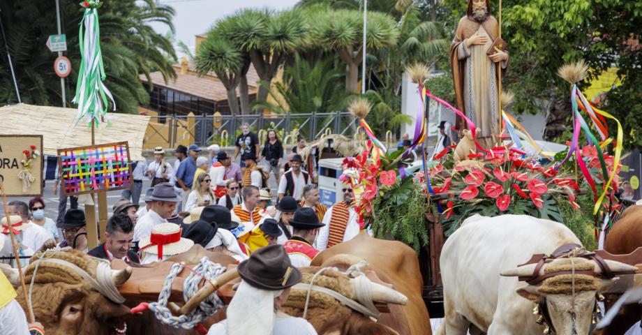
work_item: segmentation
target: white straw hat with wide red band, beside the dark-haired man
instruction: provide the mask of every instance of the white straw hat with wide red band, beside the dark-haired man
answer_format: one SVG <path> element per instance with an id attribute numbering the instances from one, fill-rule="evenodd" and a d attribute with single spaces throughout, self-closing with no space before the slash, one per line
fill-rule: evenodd
<path id="1" fill-rule="evenodd" d="M 140 239 L 140 250 L 146 253 L 163 256 L 178 255 L 192 248 L 194 241 L 181 237 L 181 227 L 174 223 L 159 223 L 151 229 L 151 236 Z"/>

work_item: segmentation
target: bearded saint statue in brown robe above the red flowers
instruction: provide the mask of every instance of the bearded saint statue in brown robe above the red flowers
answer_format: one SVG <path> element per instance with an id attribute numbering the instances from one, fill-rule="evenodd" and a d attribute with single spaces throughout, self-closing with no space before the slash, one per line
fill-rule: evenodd
<path id="1" fill-rule="evenodd" d="M 505 71 L 508 52 L 499 36 L 500 24 L 491 15 L 489 1 L 468 0 L 450 46 L 457 107 L 475 124 L 477 139 L 486 148 L 495 145 L 501 131 L 498 66 Z M 467 128 L 460 118 L 456 126 Z"/>

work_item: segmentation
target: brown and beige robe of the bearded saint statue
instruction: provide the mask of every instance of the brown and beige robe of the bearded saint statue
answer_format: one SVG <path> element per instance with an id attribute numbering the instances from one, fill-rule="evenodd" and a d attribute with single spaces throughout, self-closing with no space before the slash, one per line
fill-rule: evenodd
<path id="1" fill-rule="evenodd" d="M 482 36 L 488 36 L 488 42 L 465 47 L 465 40 L 477 31 Z M 484 147 L 491 147 L 495 140 L 493 135 L 499 135 L 501 131 L 497 64 L 486 54 L 498 32 L 498 22 L 491 15 L 482 23 L 465 16 L 459 20 L 450 46 L 457 107 L 475 123 L 477 137 Z M 507 60 L 499 64 L 505 70 Z M 460 117 L 457 117 L 456 126 L 458 130 L 468 128 Z"/>

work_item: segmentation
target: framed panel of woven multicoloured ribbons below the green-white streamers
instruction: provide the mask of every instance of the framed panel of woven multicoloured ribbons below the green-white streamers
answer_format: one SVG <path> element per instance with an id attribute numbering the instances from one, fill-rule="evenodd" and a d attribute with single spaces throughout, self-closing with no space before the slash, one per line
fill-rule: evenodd
<path id="1" fill-rule="evenodd" d="M 58 150 L 65 195 L 112 191 L 132 184 L 127 142 Z"/>

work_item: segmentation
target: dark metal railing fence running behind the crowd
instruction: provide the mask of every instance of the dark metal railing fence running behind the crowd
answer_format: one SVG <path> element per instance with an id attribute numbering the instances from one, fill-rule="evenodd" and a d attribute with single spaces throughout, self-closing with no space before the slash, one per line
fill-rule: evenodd
<path id="1" fill-rule="evenodd" d="M 283 115 L 170 115 L 151 117 L 145 134 L 146 143 L 163 147 L 175 147 L 184 142 L 206 146 L 211 143 L 233 145 L 241 124 L 247 122 L 260 135 L 261 140 L 267 130 L 275 128 L 284 131 L 289 138 L 283 142 L 296 141 L 300 134 L 308 140 L 315 140 L 327 133 L 352 135 L 359 125 L 349 112 L 283 114 Z M 274 126 L 273 126 L 274 125 Z M 292 138 L 294 137 L 294 138 Z M 149 147 L 149 146 L 148 146 Z"/>

